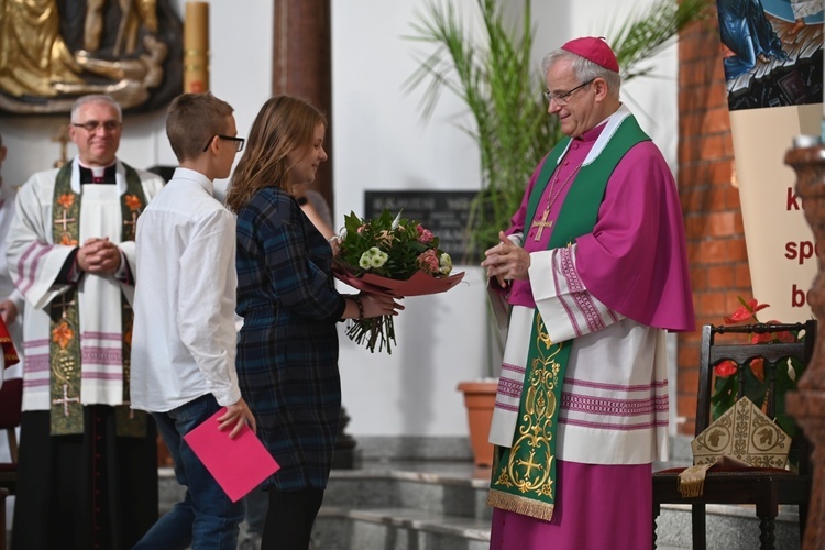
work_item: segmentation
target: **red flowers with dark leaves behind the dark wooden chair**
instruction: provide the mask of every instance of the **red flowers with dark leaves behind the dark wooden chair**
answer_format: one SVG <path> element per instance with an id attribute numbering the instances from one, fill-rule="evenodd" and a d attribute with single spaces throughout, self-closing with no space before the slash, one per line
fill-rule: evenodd
<path id="1" fill-rule="evenodd" d="M 741 307 L 730 317 L 725 317 L 725 324 L 738 324 L 740 322 L 761 323 L 757 318 L 757 311 L 769 307 L 768 304 L 759 304 L 756 299 L 745 300 L 739 298 Z M 768 326 L 779 321 L 769 321 Z M 800 333 L 802 332 L 802 333 Z M 804 331 L 772 331 L 749 334 L 751 343 L 759 342 L 799 342 L 805 339 Z M 757 407 L 765 408 L 768 395 L 768 381 L 765 376 L 765 362 L 761 359 L 754 360 L 748 369 L 741 373 L 746 380 L 745 396 L 757 404 Z M 736 396 L 739 391 L 739 366 L 733 361 L 723 361 L 714 369 L 715 382 L 714 392 L 711 396 L 712 420 L 719 418 L 736 403 Z M 743 367 L 744 369 L 744 367 Z M 796 381 L 802 376 L 805 365 L 802 362 L 791 359 L 788 363 L 780 365 L 776 372 L 774 404 L 777 410 L 776 422 L 790 437 L 794 437 L 798 431 L 796 422 L 793 417 L 785 413 L 784 396 L 789 391 L 796 389 Z M 758 382 L 754 384 L 752 382 Z"/>

